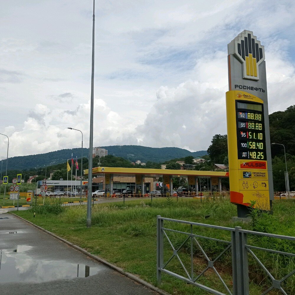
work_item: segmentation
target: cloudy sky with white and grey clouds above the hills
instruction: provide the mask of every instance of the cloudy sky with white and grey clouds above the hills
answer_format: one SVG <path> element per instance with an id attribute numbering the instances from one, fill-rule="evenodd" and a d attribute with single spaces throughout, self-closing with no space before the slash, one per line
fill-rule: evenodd
<path id="1" fill-rule="evenodd" d="M 89 146 L 92 0 L 0 1 L 9 157 Z M 265 46 L 269 112 L 295 104 L 295 2 L 96 1 L 94 146 L 207 150 L 226 133 L 227 43 Z M 1 135 L 0 159 L 7 139 Z"/>

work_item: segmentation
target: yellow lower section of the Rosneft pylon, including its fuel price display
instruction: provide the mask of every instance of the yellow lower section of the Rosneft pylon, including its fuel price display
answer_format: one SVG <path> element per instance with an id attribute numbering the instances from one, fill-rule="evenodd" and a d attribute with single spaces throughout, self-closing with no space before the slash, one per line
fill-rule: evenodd
<path id="1" fill-rule="evenodd" d="M 231 202 L 249 206 L 256 201 L 257 207 L 269 210 L 263 101 L 228 91 L 226 104 Z"/>

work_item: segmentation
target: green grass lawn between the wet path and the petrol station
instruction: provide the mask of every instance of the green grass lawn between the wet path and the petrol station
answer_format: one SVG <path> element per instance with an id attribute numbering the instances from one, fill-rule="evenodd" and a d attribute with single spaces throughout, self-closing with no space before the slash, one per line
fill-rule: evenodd
<path id="1" fill-rule="evenodd" d="M 236 207 L 225 200 L 203 199 L 176 199 L 158 198 L 150 200 L 128 201 L 123 203 L 105 203 L 94 205 L 92 211 L 92 227 L 86 228 L 86 206 L 63 207 L 58 209 L 58 214 L 50 212 L 50 206 L 38 206 L 27 211 L 14 212 L 19 216 L 34 222 L 35 224 L 54 232 L 56 235 L 85 248 L 94 255 L 108 260 L 111 263 L 122 267 L 125 271 L 133 273 L 157 286 L 156 282 L 156 216 L 182 219 L 193 222 L 220 225 L 225 227 L 242 226 L 245 229 L 271 232 L 283 235 L 295 235 L 295 203 L 293 201 L 275 201 L 273 215 L 261 214 L 254 216 L 253 224 L 232 223 L 231 217 L 236 216 Z M 43 208 L 41 208 L 43 207 Z M 55 208 L 56 209 L 56 208 Z M 55 210 L 54 209 L 54 210 Z M 33 213 L 36 212 L 36 218 Z M 208 217 L 209 216 L 209 217 Z M 206 217 L 206 218 L 205 218 Z M 165 222 L 165 227 L 189 232 L 189 228 L 183 224 Z M 204 227 L 194 228 L 194 233 L 215 237 L 230 241 L 230 233 L 227 231 L 214 230 Z M 169 234 L 173 245 L 181 245 L 184 235 Z M 260 238 L 259 238 L 260 239 Z M 274 239 L 272 239 L 274 240 Z M 295 253 L 295 245 L 291 242 L 277 243 L 268 238 L 258 240 L 256 237 L 249 237 L 248 242 L 264 248 L 272 248 L 281 251 Z M 210 259 L 214 259 L 225 248 L 223 244 L 215 241 L 205 242 L 199 240 L 204 251 Z M 285 249 L 285 250 L 283 250 Z M 172 255 L 171 247 L 167 241 L 164 243 L 164 261 Z M 179 251 L 179 255 L 190 273 L 190 244 Z M 287 271 L 295 267 L 292 258 L 289 260 L 272 256 L 270 253 L 256 253 L 259 258 L 281 278 Z M 227 252 L 214 264 L 227 286 L 231 289 L 231 255 Z M 206 267 L 206 260 L 202 253 L 194 246 L 194 272 L 195 276 Z M 184 275 L 180 263 L 176 258 L 171 260 L 168 268 Z M 249 259 L 250 294 L 258 295 L 268 289 L 269 281 L 265 279 L 260 266 Z M 295 286 L 290 277 L 285 291 L 287 294 L 295 294 Z M 213 269 L 209 269 L 198 280 L 211 288 L 217 288 L 226 293 L 224 286 L 219 281 Z M 187 284 L 179 279 L 162 274 L 161 289 L 171 294 L 209 294 L 197 287 Z M 271 291 L 268 294 L 281 294 Z"/>

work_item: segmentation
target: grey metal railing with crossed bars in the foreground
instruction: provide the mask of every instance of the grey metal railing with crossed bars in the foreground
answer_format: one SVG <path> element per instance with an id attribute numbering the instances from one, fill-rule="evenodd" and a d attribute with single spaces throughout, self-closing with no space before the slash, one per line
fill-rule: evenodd
<path id="1" fill-rule="evenodd" d="M 173 230 L 171 228 L 164 227 L 164 221 L 175 222 L 178 224 L 187 224 L 189 225 L 190 230 L 189 232 L 185 232 L 181 230 Z M 194 226 L 228 231 L 231 237 L 230 241 L 218 239 L 215 237 L 198 235 L 194 233 L 193 231 Z M 168 237 L 168 234 L 167 234 L 168 232 L 182 234 L 182 235 L 185 235 L 186 238 L 180 246 L 174 247 L 173 243 L 171 242 L 171 239 Z M 183 220 L 164 218 L 158 215 L 157 216 L 157 281 L 158 281 L 158 284 L 161 283 L 161 274 L 166 273 L 168 275 L 171 275 L 173 277 L 186 281 L 187 283 L 190 283 L 194 286 L 197 286 L 201 289 L 204 289 L 212 294 L 249 295 L 249 267 L 248 267 L 249 257 L 248 256 L 251 256 L 262 268 L 262 270 L 266 273 L 266 275 L 269 278 L 269 281 L 271 282 L 271 286 L 266 291 L 261 293 L 261 295 L 268 294 L 273 289 L 280 291 L 281 294 L 287 295 L 288 293 L 286 293 L 286 291 L 283 289 L 282 283 L 295 273 L 295 265 L 292 265 L 294 267 L 292 271 L 289 271 L 282 278 L 276 279 L 275 276 L 271 274 L 271 272 L 266 268 L 263 262 L 258 258 L 258 255 L 255 255 L 253 251 L 259 250 L 259 251 L 264 251 L 267 253 L 285 255 L 289 257 L 295 257 L 295 254 L 288 253 L 286 251 L 272 250 L 272 249 L 250 245 L 247 241 L 249 235 L 251 236 L 254 235 L 256 237 L 260 236 L 260 237 L 295 241 L 295 237 L 243 230 L 242 227 L 230 228 L 230 227 L 221 227 L 221 226 L 210 225 L 210 224 L 188 222 Z M 219 255 L 216 258 L 210 259 L 209 255 L 207 255 L 206 252 L 204 251 L 204 246 L 203 247 L 201 246 L 201 243 L 199 242 L 200 239 L 220 242 L 225 245 L 224 246 L 225 248 L 224 250 L 221 251 L 221 253 L 219 253 Z M 171 255 L 171 257 L 167 259 L 166 261 L 164 261 L 164 240 L 168 241 L 168 245 L 171 247 L 173 251 L 173 254 Z M 185 267 L 184 265 L 185 263 L 183 263 L 179 255 L 181 252 L 188 254 L 185 250 L 181 251 L 184 248 L 184 245 L 186 245 L 187 243 L 189 244 L 188 248 L 190 249 L 189 269 Z M 195 274 L 194 246 L 201 251 L 207 263 L 207 266 L 203 269 L 203 271 L 201 271 L 198 274 Z M 227 251 L 230 251 L 230 250 L 231 250 L 231 256 L 232 256 L 232 263 L 231 263 L 232 288 L 230 288 L 230 286 L 226 284 L 226 282 L 224 281 L 224 279 L 222 278 L 222 276 L 220 275 L 220 273 L 217 271 L 216 267 L 214 266 L 214 264 L 217 263 L 217 261 L 222 257 L 222 255 L 224 255 L 225 253 L 227 253 Z M 179 273 L 176 273 L 175 271 L 171 271 L 167 269 L 167 266 L 169 265 L 169 263 L 174 257 L 176 257 L 178 262 L 180 263 L 179 270 L 183 270 L 185 273 L 185 276 L 180 275 Z M 222 293 L 221 291 L 212 289 L 198 282 L 199 278 L 203 276 L 208 269 L 211 269 L 214 271 L 214 273 L 217 275 L 217 277 L 221 281 L 227 293 Z M 294 293 L 289 293 L 289 294 L 294 294 Z"/>

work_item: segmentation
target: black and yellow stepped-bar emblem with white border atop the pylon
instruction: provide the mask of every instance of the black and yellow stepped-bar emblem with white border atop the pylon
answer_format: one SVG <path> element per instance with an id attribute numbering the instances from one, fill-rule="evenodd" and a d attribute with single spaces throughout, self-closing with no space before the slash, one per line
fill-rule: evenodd
<path id="1" fill-rule="evenodd" d="M 264 60 L 264 46 L 251 31 L 243 31 L 235 38 L 235 55 L 243 63 L 244 79 L 259 80 L 258 65 Z"/>

